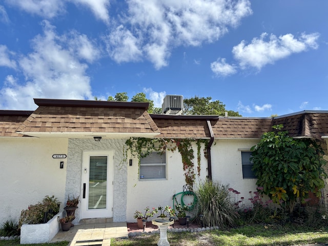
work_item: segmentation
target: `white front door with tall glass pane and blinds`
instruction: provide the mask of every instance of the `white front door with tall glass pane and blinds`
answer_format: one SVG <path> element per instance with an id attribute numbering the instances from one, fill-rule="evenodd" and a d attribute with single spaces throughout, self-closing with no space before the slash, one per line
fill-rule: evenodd
<path id="1" fill-rule="evenodd" d="M 82 218 L 113 217 L 113 151 L 84 151 Z"/>

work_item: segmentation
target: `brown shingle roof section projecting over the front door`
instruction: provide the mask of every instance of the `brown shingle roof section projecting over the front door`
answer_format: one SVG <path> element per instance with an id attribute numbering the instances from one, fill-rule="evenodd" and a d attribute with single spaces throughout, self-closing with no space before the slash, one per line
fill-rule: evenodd
<path id="1" fill-rule="evenodd" d="M 159 133 L 157 126 L 146 111 L 148 104 L 129 104 L 51 99 L 42 100 L 39 107 L 17 129 L 33 133 Z M 76 102 L 76 104 L 74 104 Z M 43 106 L 40 106 L 43 105 Z M 126 107 L 116 107 L 126 106 Z M 147 107 L 145 107 L 147 106 Z"/>

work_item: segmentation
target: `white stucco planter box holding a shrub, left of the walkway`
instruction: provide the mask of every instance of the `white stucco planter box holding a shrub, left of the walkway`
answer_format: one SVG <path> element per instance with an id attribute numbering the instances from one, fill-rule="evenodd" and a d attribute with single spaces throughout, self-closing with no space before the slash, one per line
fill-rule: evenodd
<path id="1" fill-rule="evenodd" d="M 20 244 L 50 242 L 59 232 L 58 217 L 62 218 L 63 212 L 59 212 L 45 224 L 23 224 L 20 229 Z"/>

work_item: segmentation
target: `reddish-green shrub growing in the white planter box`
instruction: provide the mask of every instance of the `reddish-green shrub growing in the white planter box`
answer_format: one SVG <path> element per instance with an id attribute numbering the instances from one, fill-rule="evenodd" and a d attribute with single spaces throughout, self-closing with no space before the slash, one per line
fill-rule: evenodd
<path id="1" fill-rule="evenodd" d="M 42 202 L 30 205 L 27 210 L 20 213 L 18 228 L 23 224 L 39 224 L 44 222 L 45 213 L 48 213 L 47 221 L 49 221 L 55 214 L 59 212 L 59 204 L 57 198 L 54 196 L 45 196 Z"/>

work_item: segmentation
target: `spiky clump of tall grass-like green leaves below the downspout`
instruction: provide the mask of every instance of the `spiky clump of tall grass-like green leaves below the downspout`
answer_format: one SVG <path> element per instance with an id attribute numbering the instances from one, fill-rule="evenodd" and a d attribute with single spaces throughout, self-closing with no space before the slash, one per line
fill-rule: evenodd
<path id="1" fill-rule="evenodd" d="M 238 213 L 231 201 L 228 187 L 207 180 L 199 185 L 195 194 L 198 214 L 204 216 L 203 226 L 227 228 L 235 225 Z"/>

